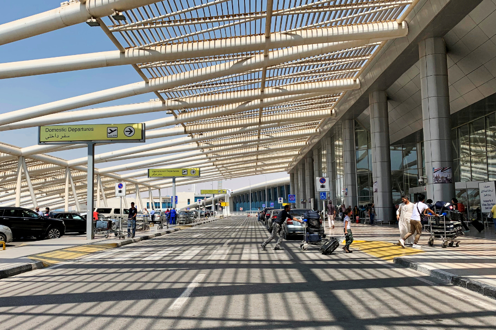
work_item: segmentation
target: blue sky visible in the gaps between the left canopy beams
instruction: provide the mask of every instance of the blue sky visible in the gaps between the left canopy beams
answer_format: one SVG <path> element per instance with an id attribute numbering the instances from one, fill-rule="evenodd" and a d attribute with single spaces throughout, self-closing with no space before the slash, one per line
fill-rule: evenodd
<path id="1" fill-rule="evenodd" d="M 34 15 L 60 6 L 61 0 L 22 0 L 2 1 L 3 15 L 0 24 L 19 18 Z M 0 46 L 0 61 L 12 62 L 28 59 L 77 55 L 94 52 L 113 51 L 116 47 L 98 27 L 89 27 L 85 23 L 66 27 L 15 43 Z M 77 95 L 91 93 L 102 89 L 112 88 L 125 84 L 142 81 L 131 66 L 115 66 L 80 70 L 73 72 L 54 73 L 47 75 L 20 77 L 0 80 L 0 113 L 24 109 L 48 102 L 53 102 Z M 122 100 L 102 103 L 90 108 L 129 103 L 145 102 L 156 96 L 153 93 L 143 94 Z M 155 112 L 131 116 L 101 119 L 99 123 L 126 123 L 143 122 L 160 118 L 165 113 Z M 91 121 L 86 121 L 89 123 Z M 18 147 L 35 145 L 37 142 L 37 128 L 26 128 L 0 132 L 0 141 Z M 165 140 L 165 139 L 162 139 Z M 159 139 L 153 142 L 158 142 Z M 132 145 L 134 147 L 134 145 Z M 102 153 L 121 149 L 123 145 L 97 146 L 96 152 Z M 75 149 L 53 153 L 52 155 L 64 159 L 74 159 L 85 154 L 84 149 Z M 164 155 L 165 156 L 165 155 Z M 141 159 L 136 159 L 137 161 Z M 117 165 L 119 162 L 111 163 Z M 106 167 L 109 163 L 97 164 L 96 167 Z M 270 174 L 270 179 L 287 176 L 286 173 Z M 253 176 L 251 183 L 264 182 L 261 175 Z M 216 183 L 214 184 L 216 185 Z M 211 183 L 199 184 L 197 189 L 207 189 Z M 248 186 L 247 178 L 233 179 L 224 183 L 224 188 L 236 189 Z M 179 191 L 187 191 L 190 186 L 181 187 Z M 170 193 L 169 189 L 169 193 Z"/>

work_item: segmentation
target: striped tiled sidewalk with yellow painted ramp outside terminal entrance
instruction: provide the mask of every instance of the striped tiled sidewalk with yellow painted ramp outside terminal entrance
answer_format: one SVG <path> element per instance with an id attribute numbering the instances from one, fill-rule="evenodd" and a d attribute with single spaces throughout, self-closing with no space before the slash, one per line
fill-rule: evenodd
<path id="1" fill-rule="evenodd" d="M 421 249 L 403 249 L 395 245 L 400 236 L 398 228 L 353 223 L 352 230 L 356 240 L 367 241 L 352 244 L 352 248 L 391 262 L 394 258 L 396 263 L 426 274 L 437 270 L 496 287 L 495 240 L 460 236 L 459 247 L 442 248 L 440 240 L 434 240 L 434 246 L 430 247 L 427 245 L 429 233 L 424 232 L 419 242 Z M 332 232 L 326 227 L 326 233 L 339 237 L 342 224 L 336 223 Z"/>

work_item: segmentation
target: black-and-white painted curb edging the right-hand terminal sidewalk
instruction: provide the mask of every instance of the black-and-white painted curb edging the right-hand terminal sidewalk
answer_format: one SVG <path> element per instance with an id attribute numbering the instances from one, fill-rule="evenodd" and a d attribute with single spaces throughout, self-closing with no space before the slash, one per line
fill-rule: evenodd
<path id="1" fill-rule="evenodd" d="M 397 265 L 401 265 L 403 267 L 427 274 L 431 277 L 441 280 L 444 283 L 461 286 L 463 288 L 482 294 L 486 297 L 496 299 L 495 286 L 475 281 L 468 277 L 458 276 L 445 271 L 441 271 L 439 269 L 435 269 L 434 267 L 422 265 L 406 258 L 397 257 L 393 259 L 393 262 Z"/>

